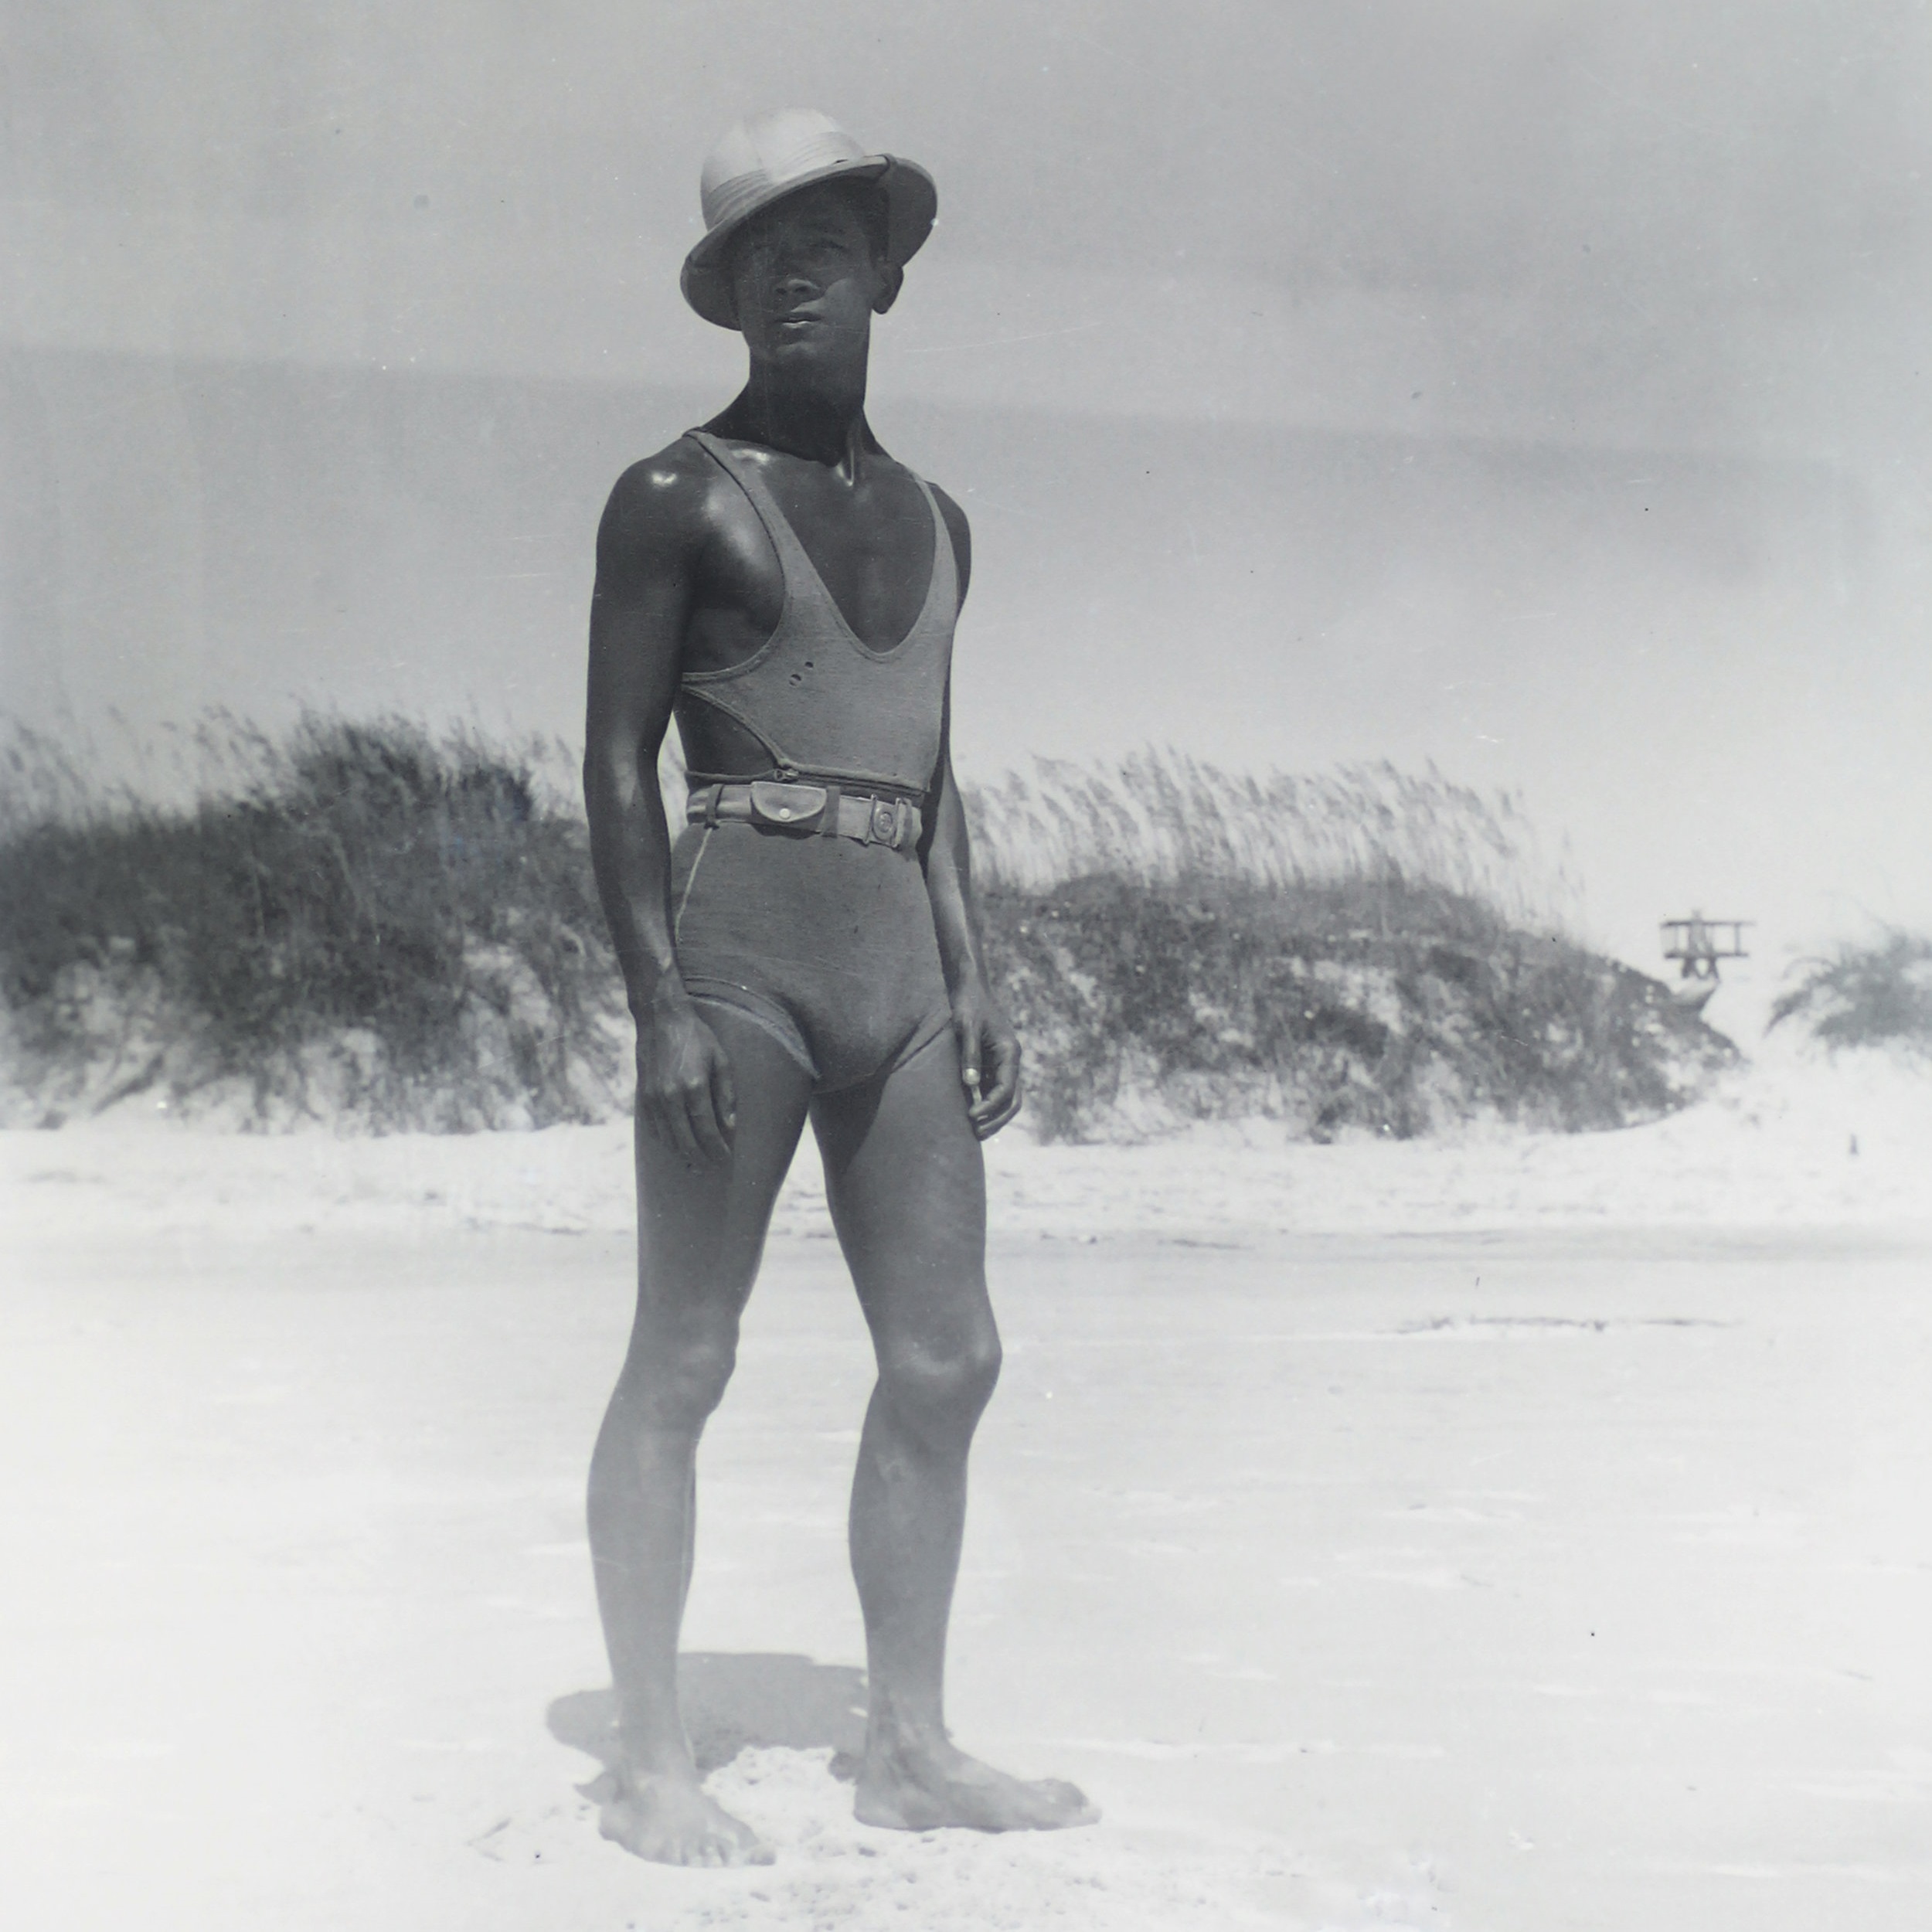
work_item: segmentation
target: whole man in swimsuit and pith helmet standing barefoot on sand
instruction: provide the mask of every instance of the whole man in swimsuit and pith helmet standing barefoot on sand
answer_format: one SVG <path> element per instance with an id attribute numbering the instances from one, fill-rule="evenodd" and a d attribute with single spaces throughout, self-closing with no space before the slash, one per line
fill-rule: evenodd
<path id="1" fill-rule="evenodd" d="M 603 1832 L 645 1859 L 769 1859 L 703 1795 L 678 1716 L 697 1437 L 810 1117 L 879 1379 L 852 1484 L 867 1824 L 1039 1830 L 1094 1812 L 947 1737 L 966 1453 L 999 1374 L 980 1142 L 1020 1105 L 987 991 L 947 750 L 970 533 L 866 421 L 871 317 L 937 197 L 823 114 L 734 128 L 686 299 L 744 392 L 626 469 L 597 533 L 585 796 L 638 1022 L 638 1318 L 591 1463 L 620 1766 Z M 657 753 L 676 717 L 672 846 Z"/>

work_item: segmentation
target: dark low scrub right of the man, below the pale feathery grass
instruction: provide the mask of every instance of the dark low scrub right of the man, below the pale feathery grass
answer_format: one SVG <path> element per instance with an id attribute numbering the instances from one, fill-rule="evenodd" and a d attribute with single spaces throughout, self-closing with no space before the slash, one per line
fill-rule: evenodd
<path id="1" fill-rule="evenodd" d="M 1488 1115 L 1607 1128 L 1735 1053 L 1658 981 L 1432 889 L 995 887 L 987 951 L 1043 1138 L 1264 1113 L 1327 1140 Z"/>

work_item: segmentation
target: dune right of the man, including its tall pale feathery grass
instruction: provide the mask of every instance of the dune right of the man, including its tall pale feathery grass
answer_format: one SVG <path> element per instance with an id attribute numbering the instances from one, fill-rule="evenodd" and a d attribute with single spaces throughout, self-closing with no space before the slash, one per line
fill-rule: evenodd
<path id="1" fill-rule="evenodd" d="M 989 952 L 1047 1138 L 1267 1115 L 1314 1140 L 1656 1119 L 1733 1051 L 1569 937 L 1511 796 L 1140 752 L 974 796 Z"/>

